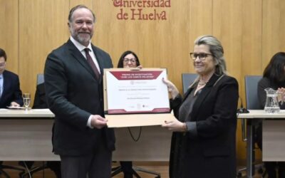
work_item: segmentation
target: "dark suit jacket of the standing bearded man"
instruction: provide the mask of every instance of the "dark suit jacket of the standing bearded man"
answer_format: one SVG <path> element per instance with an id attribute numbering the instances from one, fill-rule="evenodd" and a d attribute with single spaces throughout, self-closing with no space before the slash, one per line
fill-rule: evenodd
<path id="1" fill-rule="evenodd" d="M 44 70 L 48 108 L 56 115 L 53 151 L 61 156 L 88 155 L 102 142 L 115 150 L 113 129 L 90 129 L 88 118 L 104 117 L 103 68 L 113 68 L 110 56 L 92 45 L 100 66 L 100 79 L 71 40 L 52 51 Z"/>

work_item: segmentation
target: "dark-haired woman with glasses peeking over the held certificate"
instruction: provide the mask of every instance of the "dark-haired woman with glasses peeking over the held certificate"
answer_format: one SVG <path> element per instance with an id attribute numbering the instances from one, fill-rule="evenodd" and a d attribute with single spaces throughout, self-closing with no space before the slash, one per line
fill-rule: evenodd
<path id="1" fill-rule="evenodd" d="M 125 51 L 118 61 L 118 68 L 137 68 L 140 67 L 138 56 L 133 51 Z M 130 161 L 120 162 L 124 178 L 132 178 L 134 174 L 133 163 Z"/>

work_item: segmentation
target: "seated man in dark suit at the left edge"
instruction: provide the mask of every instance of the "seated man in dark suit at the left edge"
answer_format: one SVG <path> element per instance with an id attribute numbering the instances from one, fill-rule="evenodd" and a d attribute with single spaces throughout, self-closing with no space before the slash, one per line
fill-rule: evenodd
<path id="1" fill-rule="evenodd" d="M 15 73 L 5 70 L 7 56 L 0 48 L 0 108 L 23 105 L 19 77 Z"/>

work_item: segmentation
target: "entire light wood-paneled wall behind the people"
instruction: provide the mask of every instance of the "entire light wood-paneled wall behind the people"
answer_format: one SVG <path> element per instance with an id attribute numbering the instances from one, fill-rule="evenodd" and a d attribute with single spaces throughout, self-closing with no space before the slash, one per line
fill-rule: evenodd
<path id="1" fill-rule="evenodd" d="M 197 36 L 212 34 L 222 41 L 242 100 L 244 75 L 261 75 L 271 56 L 285 51 L 284 0 L 170 0 L 171 7 L 155 8 L 165 11 L 167 20 L 148 21 L 118 20 L 114 1 L 0 0 L 0 48 L 8 55 L 7 69 L 19 74 L 21 90 L 35 93 L 36 74 L 43 73 L 48 53 L 67 41 L 68 12 L 77 4 L 94 10 L 93 43 L 110 53 L 114 66 L 123 51 L 135 51 L 143 66 L 167 68 L 180 90 L 181 73 L 194 72 L 189 53 Z M 237 140 L 237 157 L 245 159 L 240 125 Z"/>

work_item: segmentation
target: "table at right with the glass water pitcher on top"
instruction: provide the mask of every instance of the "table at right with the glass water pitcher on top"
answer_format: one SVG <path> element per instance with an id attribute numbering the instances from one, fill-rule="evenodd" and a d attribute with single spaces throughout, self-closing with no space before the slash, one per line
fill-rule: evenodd
<path id="1" fill-rule="evenodd" d="M 266 113 L 264 110 L 249 110 L 249 113 L 242 113 L 237 116 L 239 119 L 247 119 L 247 177 L 251 178 L 253 171 L 253 126 L 259 120 L 263 120 L 262 158 L 264 161 L 285 161 L 284 135 L 285 135 L 285 110 L 278 113 Z M 266 120 L 265 120 L 266 119 Z M 276 137 L 276 133 L 278 137 Z M 274 138 L 274 139 L 273 139 Z M 280 141 L 282 140 L 282 141 Z M 270 144 L 270 145 L 269 145 Z M 276 144 L 282 147 L 276 147 Z M 281 145 L 280 145 L 281 144 Z M 275 145 L 275 147 L 274 147 Z M 281 154 L 281 155 L 280 155 Z"/>

